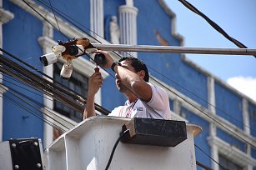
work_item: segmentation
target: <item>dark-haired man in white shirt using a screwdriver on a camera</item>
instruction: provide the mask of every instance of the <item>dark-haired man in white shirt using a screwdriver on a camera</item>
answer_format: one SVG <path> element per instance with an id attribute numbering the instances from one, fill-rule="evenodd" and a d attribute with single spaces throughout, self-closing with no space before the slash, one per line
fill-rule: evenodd
<path id="1" fill-rule="evenodd" d="M 106 57 L 104 68 L 112 68 L 116 77 L 118 91 L 128 98 L 124 106 L 116 107 L 108 116 L 114 117 L 146 117 L 169 119 L 171 111 L 168 101 L 168 93 L 161 87 L 153 86 L 148 82 L 148 68 L 135 57 L 123 57 L 114 62 L 108 52 L 101 50 Z M 100 72 L 94 72 L 88 81 L 88 97 L 83 118 L 95 116 L 94 97 L 98 89 L 103 85 L 103 77 Z"/>

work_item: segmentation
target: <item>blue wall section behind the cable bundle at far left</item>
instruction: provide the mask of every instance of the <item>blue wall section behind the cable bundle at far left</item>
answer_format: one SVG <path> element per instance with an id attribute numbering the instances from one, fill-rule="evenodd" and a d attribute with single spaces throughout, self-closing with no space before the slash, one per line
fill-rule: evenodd
<path id="1" fill-rule="evenodd" d="M 12 21 L 3 25 L 3 48 L 8 52 L 13 52 L 14 55 L 34 67 L 42 67 L 38 60 L 42 53 L 38 44 L 38 37 L 42 35 L 42 22 L 12 2 L 4 1 L 3 7 L 15 15 Z M 5 80 L 13 82 L 14 85 Z M 28 94 L 38 102 L 43 102 L 42 96 L 17 87 L 15 84 L 18 82 L 12 81 L 8 77 L 4 77 L 3 83 L 18 90 L 18 92 Z M 14 98 L 9 92 L 4 93 L 4 97 Z M 38 112 L 38 114 L 41 113 Z M 23 110 L 17 104 L 3 100 L 3 140 L 31 137 L 43 139 L 43 121 Z"/>

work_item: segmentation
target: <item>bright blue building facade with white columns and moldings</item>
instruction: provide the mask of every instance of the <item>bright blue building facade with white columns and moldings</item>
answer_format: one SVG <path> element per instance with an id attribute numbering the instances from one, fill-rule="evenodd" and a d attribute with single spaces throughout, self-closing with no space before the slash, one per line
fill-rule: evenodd
<path id="1" fill-rule="evenodd" d="M 0 14 L 0 47 L 84 96 L 88 77 L 95 67 L 88 57 L 73 60 L 74 72 L 69 80 L 59 77 L 62 64 L 58 64 L 62 61 L 47 67 L 39 61 L 40 56 L 52 52 L 58 40 L 67 41 L 65 36 L 88 37 L 91 42 L 101 43 L 183 46 L 183 37 L 175 30 L 175 14 L 163 0 L 0 0 Z M 168 92 L 173 119 L 186 120 L 203 128 L 195 139 L 198 162 L 217 170 L 223 169 L 218 163 L 228 169 L 256 169 L 255 101 L 183 54 L 120 54 L 138 57 L 147 64 L 150 82 Z M 112 110 L 122 105 L 125 97 L 114 85 L 113 72 L 102 72 L 104 85 L 95 102 Z M 43 108 L 48 108 L 54 117 L 62 117 L 73 124 L 82 120 L 79 112 L 13 77 L 3 74 L 0 81 L 8 87 L 8 90 L 1 88 L 0 97 L 0 139 L 3 141 L 35 137 L 42 138 L 47 147 L 56 133 L 53 127 L 10 100 L 9 89 L 41 103 L 41 113 L 35 108 L 32 112 L 42 114 L 46 112 Z M 31 108 L 28 104 L 25 107 Z"/>

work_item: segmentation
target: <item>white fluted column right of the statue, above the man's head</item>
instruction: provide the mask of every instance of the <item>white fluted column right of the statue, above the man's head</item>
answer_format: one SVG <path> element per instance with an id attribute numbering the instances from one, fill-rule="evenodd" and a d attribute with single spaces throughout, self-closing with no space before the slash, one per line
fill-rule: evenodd
<path id="1" fill-rule="evenodd" d="M 138 8 L 133 7 L 133 0 L 127 0 L 126 5 L 119 7 L 120 42 L 123 44 L 137 45 L 137 14 Z M 137 52 L 128 52 L 137 57 Z M 124 56 L 125 53 L 123 53 Z"/>

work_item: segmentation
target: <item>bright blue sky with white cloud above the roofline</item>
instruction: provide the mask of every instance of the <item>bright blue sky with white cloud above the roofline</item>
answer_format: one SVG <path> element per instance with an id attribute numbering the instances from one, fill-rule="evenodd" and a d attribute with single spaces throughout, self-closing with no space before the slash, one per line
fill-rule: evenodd
<path id="1" fill-rule="evenodd" d="M 255 0 L 187 1 L 217 23 L 229 36 L 248 48 L 256 48 Z M 184 47 L 238 48 L 178 0 L 165 2 L 176 14 L 176 32 L 184 37 Z M 186 54 L 186 57 L 256 102 L 256 57 L 212 54 Z"/>

